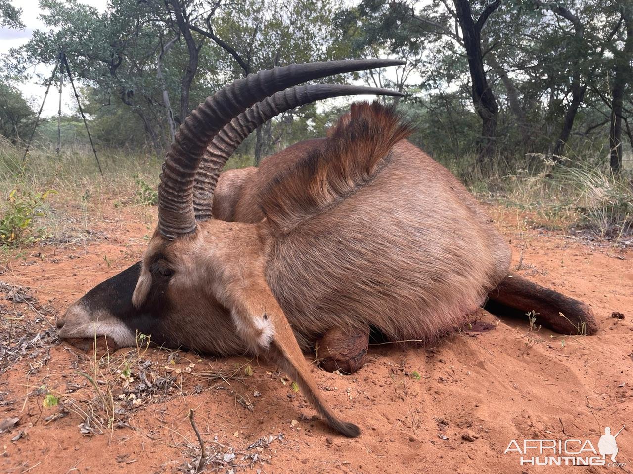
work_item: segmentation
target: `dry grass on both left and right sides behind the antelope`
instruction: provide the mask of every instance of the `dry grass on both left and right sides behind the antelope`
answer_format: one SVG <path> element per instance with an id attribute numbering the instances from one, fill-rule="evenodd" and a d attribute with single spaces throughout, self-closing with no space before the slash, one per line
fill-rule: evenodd
<path id="1" fill-rule="evenodd" d="M 0 139 L 1 140 L 1 139 Z M 82 145 L 83 146 L 83 145 Z M 94 162 L 91 150 L 74 146 L 60 154 L 34 147 L 22 162 L 23 150 L 6 140 L 0 141 L 0 196 L 12 190 L 44 193 L 54 190 L 41 206 L 41 216 L 32 225 L 42 229 L 46 243 L 85 243 L 99 238 L 92 233 L 90 219 L 102 219 L 103 197 L 115 197 L 114 205 L 148 208 L 156 203 L 155 189 L 163 157 L 153 152 L 103 150 L 99 159 L 104 176 Z M 596 162 L 586 157 L 584 162 Z M 482 174 L 474 161 L 465 157 L 461 168 L 452 171 L 465 176 L 475 195 L 482 200 L 500 202 L 529 211 L 532 227 L 585 233 L 622 245 L 633 245 L 633 173 L 613 176 L 605 166 L 570 166 L 569 160 L 554 163 L 542 155 L 530 155 L 508 162 L 499 157 L 491 173 Z M 599 157 L 605 162 L 604 157 Z M 538 162 L 537 165 L 534 163 Z M 583 162 L 580 157 L 574 163 Z M 249 166 L 249 157 L 236 155 L 230 167 Z M 526 171 L 530 169 L 539 171 Z M 466 166 L 466 167 L 465 167 Z M 449 166 L 451 167 L 451 166 Z M 517 169 L 508 173 L 508 169 Z M 7 200 L 0 199 L 0 217 L 7 211 Z M 23 243 L 28 245 L 28 241 Z M 22 243 L 11 252 L 0 249 L 0 259 L 15 258 Z M 4 253 L 4 255 L 2 255 Z"/>

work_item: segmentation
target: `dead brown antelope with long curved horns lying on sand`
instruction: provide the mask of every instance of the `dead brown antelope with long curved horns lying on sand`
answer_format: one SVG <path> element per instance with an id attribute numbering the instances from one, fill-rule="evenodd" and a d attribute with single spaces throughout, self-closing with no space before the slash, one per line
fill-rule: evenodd
<path id="1" fill-rule="evenodd" d="M 299 383 L 325 423 L 354 437 L 359 428 L 334 415 L 301 352 L 329 331 L 373 327 L 391 340 L 432 341 L 490 299 L 535 310 L 558 332 L 596 332 L 584 303 L 509 276 L 510 248 L 477 201 L 377 102 L 354 104 L 327 138 L 218 179 L 237 145 L 282 111 L 337 95 L 398 95 L 298 84 L 393 64 L 293 64 L 206 99 L 166 154 L 142 262 L 73 303 L 60 336 L 106 336 L 120 347 L 138 331 L 157 344 L 261 356 Z"/>

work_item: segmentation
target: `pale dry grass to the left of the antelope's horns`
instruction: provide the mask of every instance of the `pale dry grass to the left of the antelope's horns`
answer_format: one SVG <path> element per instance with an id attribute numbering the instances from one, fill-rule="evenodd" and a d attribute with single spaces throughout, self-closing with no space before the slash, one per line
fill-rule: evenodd
<path id="1" fill-rule="evenodd" d="M 89 221 L 103 219 L 104 197 L 114 198 L 115 207 L 148 208 L 156 205 L 156 188 L 163 155 L 155 152 L 99 150 L 103 176 L 85 145 L 72 145 L 60 154 L 54 150 L 32 147 L 26 161 L 24 150 L 0 137 L 0 218 L 9 209 L 8 197 L 28 197 L 49 193 L 37 208 L 32 229 L 37 238 L 16 240 L 8 246 L 0 242 L 0 260 L 15 258 L 20 247 L 44 239 L 44 243 L 63 245 L 84 243 L 94 238 Z M 252 158 L 235 155 L 227 169 L 251 166 Z M 98 236 L 97 236 L 98 237 Z M 3 255 L 4 254 L 4 255 Z M 4 258 L 3 258 L 4 257 Z"/>

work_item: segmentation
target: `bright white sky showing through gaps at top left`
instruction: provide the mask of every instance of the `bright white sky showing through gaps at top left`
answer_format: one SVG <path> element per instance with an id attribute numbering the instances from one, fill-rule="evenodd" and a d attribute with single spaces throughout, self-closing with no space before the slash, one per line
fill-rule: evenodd
<path id="1" fill-rule="evenodd" d="M 107 0 L 78 0 L 79 3 L 92 5 L 100 10 L 106 8 Z M 22 8 L 22 23 L 25 24 L 24 30 L 13 30 L 11 28 L 0 28 L 0 54 L 6 54 L 11 48 L 19 47 L 28 42 L 34 30 L 44 28 L 44 23 L 39 19 L 42 9 L 39 7 L 39 0 L 11 0 L 11 4 L 16 8 Z M 29 70 L 29 73 L 37 72 L 44 74 L 47 78 L 53 73 L 53 65 L 40 64 L 35 70 Z M 30 100 L 32 106 L 37 111 L 44 98 L 46 87 L 37 83 L 37 78 L 30 82 L 17 84 L 22 90 L 25 97 Z M 68 87 L 66 87 L 66 85 Z M 62 111 L 70 112 L 75 110 L 75 97 L 70 92 L 70 84 L 65 83 L 64 94 L 62 99 Z M 57 114 L 59 96 L 57 90 L 51 88 L 42 116 L 49 117 Z"/>

